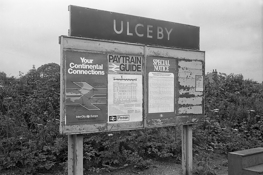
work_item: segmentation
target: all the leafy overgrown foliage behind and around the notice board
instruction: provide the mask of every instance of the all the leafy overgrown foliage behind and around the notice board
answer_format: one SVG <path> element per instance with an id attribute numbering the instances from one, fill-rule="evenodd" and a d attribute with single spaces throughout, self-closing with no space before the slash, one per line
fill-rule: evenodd
<path id="1" fill-rule="evenodd" d="M 0 73 L 0 170 L 33 173 L 63 166 L 67 138 L 59 135 L 60 68 L 49 63 L 8 78 Z M 2 77 L 2 78 L 1 78 Z M 12 79 L 13 78 L 13 79 Z M 263 92 L 241 74 L 205 79 L 205 121 L 193 127 L 197 174 L 215 174 L 211 154 L 263 147 Z M 181 162 L 178 126 L 93 133 L 84 136 L 86 170 L 149 167 L 148 158 Z"/>

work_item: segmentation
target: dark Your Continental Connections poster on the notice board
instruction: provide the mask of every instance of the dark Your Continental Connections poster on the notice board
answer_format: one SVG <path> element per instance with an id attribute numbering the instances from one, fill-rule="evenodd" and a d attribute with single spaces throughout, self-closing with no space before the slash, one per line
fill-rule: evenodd
<path id="1" fill-rule="evenodd" d="M 105 123 L 106 54 L 65 51 L 65 125 Z"/>

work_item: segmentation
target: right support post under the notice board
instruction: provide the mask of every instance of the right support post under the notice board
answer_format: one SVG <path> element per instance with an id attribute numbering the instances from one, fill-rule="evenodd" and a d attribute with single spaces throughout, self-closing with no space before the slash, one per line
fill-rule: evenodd
<path id="1" fill-rule="evenodd" d="M 183 175 L 193 174 L 193 125 L 182 125 L 182 170 Z"/>

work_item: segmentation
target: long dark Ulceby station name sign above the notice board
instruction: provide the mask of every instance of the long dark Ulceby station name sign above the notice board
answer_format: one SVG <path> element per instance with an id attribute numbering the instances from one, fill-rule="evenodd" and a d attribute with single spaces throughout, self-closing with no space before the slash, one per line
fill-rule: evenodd
<path id="1" fill-rule="evenodd" d="M 199 27 L 69 6 L 70 36 L 199 50 Z"/>

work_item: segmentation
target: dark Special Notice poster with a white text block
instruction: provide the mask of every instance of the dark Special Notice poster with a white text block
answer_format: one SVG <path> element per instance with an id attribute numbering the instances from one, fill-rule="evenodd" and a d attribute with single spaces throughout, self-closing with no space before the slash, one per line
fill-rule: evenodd
<path id="1" fill-rule="evenodd" d="M 147 120 L 176 115 L 176 60 L 147 57 Z"/>

